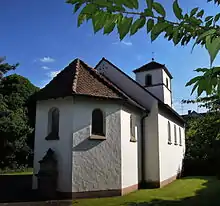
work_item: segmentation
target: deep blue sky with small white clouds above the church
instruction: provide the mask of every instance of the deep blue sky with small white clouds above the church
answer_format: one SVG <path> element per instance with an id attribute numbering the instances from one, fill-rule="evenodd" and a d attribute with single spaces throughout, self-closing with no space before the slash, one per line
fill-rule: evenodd
<path id="1" fill-rule="evenodd" d="M 160 2 L 172 19 L 172 0 Z M 217 11 L 206 0 L 180 0 L 180 5 L 185 11 L 196 6 L 205 8 L 207 15 Z M 188 109 L 196 109 L 196 105 L 181 107 L 180 101 L 191 98 L 191 88 L 186 88 L 185 83 L 196 75 L 193 69 L 209 65 L 204 49 L 196 47 L 191 53 L 192 45 L 174 47 L 163 37 L 151 43 L 145 29 L 122 42 L 116 32 L 94 35 L 91 23 L 77 28 L 77 16 L 72 10 L 64 0 L 1 0 L 0 56 L 6 56 L 9 63 L 19 62 L 16 73 L 42 87 L 75 58 L 95 66 L 105 57 L 134 77 L 132 70 L 149 62 L 154 52 L 155 60 L 166 64 L 174 77 L 173 99 L 177 111 L 186 113 Z M 215 61 L 218 63 L 219 57 Z"/>

